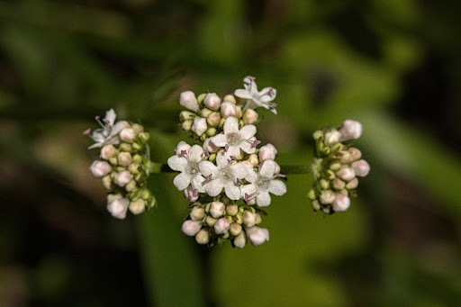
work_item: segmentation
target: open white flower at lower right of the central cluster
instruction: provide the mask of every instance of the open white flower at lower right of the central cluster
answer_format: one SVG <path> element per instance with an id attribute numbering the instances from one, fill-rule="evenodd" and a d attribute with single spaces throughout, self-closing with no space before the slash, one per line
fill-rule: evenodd
<path id="1" fill-rule="evenodd" d="M 276 162 L 267 160 L 256 171 L 250 171 L 249 176 L 245 179 L 250 183 L 241 187 L 241 195 L 245 201 L 249 201 L 256 197 L 256 203 L 260 207 L 266 207 L 270 204 L 269 193 L 275 195 L 283 195 L 286 193 L 286 185 L 280 180 L 276 180 Z"/>

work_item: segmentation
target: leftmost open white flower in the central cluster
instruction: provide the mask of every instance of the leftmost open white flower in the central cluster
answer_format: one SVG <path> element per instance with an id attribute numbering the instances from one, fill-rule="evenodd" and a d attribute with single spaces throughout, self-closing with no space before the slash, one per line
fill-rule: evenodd
<path id="1" fill-rule="evenodd" d="M 178 144 L 178 147 L 181 143 Z M 177 175 L 173 180 L 173 184 L 179 191 L 183 191 L 187 186 L 192 185 L 192 188 L 200 193 L 205 192 L 203 183 L 205 178 L 199 170 L 199 163 L 203 158 L 203 148 L 199 145 L 194 145 L 189 152 L 183 151 L 184 154 L 176 155 L 168 158 L 168 167 L 181 174 Z"/>

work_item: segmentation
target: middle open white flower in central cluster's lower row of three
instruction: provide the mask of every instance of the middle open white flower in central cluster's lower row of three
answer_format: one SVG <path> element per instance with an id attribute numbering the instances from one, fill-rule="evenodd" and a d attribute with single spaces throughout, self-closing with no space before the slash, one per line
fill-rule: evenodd
<path id="1" fill-rule="evenodd" d="M 240 184 L 238 181 L 248 175 L 248 167 L 241 163 L 232 165 L 232 160 L 228 155 L 221 152 L 216 157 L 215 166 L 210 161 L 203 161 L 200 163 L 199 168 L 203 176 L 210 179 L 205 185 L 205 191 L 210 196 L 217 196 L 224 188 L 225 194 L 231 200 L 240 199 Z"/>

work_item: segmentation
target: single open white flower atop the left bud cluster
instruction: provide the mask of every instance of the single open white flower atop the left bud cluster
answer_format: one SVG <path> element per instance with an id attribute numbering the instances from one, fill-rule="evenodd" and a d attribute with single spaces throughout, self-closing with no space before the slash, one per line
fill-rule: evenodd
<path id="1" fill-rule="evenodd" d="M 100 121 L 99 116 L 96 116 L 96 122 L 98 122 L 102 128 L 93 131 L 90 138 L 95 141 L 95 144 L 88 147 L 88 149 L 103 147 L 105 144 L 118 144 L 120 142 L 118 134 L 125 128 L 125 123 L 117 122 L 113 124 L 116 117 L 117 115 L 113 109 L 105 113 L 103 121 Z"/>

